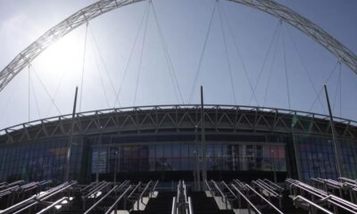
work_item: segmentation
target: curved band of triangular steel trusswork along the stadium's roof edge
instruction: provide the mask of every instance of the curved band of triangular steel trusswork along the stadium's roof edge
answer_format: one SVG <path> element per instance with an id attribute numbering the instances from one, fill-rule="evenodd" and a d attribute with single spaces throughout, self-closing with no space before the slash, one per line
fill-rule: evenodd
<path id="1" fill-rule="evenodd" d="M 275 133 L 330 136 L 328 116 L 305 111 L 252 106 L 205 105 L 207 133 Z M 335 118 L 339 137 L 357 137 L 357 121 Z M 161 105 L 87 111 L 78 113 L 75 136 L 100 133 L 195 132 L 201 123 L 200 105 Z M 71 133 L 71 114 L 23 123 L 0 130 L 0 144 L 16 144 L 66 137 Z"/>

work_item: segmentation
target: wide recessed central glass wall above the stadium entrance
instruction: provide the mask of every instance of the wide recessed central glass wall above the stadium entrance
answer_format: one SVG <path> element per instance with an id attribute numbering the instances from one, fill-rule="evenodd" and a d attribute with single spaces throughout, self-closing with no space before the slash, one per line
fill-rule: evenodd
<path id="1" fill-rule="evenodd" d="M 201 144 L 195 142 L 132 144 L 102 147 L 99 173 L 112 173 L 115 166 L 118 172 L 194 170 L 195 152 L 201 153 Z M 206 148 L 208 170 L 286 171 L 284 144 L 208 143 Z M 92 174 L 95 174 L 98 164 L 96 145 L 92 151 Z M 120 151 L 117 163 L 112 160 L 112 155 L 107 155 L 113 151 Z"/>

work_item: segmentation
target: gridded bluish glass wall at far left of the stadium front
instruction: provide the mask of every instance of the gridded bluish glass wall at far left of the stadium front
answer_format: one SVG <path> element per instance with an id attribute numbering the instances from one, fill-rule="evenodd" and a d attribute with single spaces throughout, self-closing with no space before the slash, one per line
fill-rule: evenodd
<path id="1" fill-rule="evenodd" d="M 61 182 L 67 152 L 67 139 L 51 140 L 40 143 L 12 145 L 0 148 L 1 180 L 45 180 Z M 71 155 L 71 174 L 79 172 L 79 152 L 82 145 L 73 147 Z M 79 149 L 80 148 L 80 149 Z"/>

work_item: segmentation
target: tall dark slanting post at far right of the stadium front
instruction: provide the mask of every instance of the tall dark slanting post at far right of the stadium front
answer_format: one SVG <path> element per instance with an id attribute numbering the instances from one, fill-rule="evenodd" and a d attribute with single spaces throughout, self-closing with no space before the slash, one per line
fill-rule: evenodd
<path id="1" fill-rule="evenodd" d="M 337 173 L 338 173 L 338 177 L 342 177 L 343 176 L 343 161 L 342 161 L 341 147 L 340 147 L 340 144 L 338 144 L 338 142 L 336 140 L 336 129 L 335 129 L 335 124 L 334 124 L 334 119 L 332 117 L 331 106 L 330 106 L 329 99 L 328 99 L 328 87 L 326 85 L 324 85 L 324 88 L 325 88 L 326 101 L 328 102 L 328 115 L 329 115 L 329 122 L 331 125 L 331 131 L 332 131 L 332 140 L 333 140 L 334 149 L 335 149 L 335 160 L 336 160 Z"/>

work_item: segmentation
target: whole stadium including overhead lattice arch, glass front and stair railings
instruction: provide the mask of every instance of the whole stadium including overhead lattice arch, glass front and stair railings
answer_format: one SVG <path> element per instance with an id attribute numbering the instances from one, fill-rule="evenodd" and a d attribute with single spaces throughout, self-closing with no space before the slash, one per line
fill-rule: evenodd
<path id="1" fill-rule="evenodd" d="M 58 37 L 136 2 L 74 13 L 1 71 L 0 90 Z M 357 72 L 354 53 L 296 12 L 233 2 L 300 29 Z M 334 117 L 325 90 L 328 115 L 204 104 L 203 91 L 200 104 L 77 112 L 76 91 L 72 114 L 0 130 L 0 214 L 356 213 L 357 121 Z"/>

